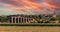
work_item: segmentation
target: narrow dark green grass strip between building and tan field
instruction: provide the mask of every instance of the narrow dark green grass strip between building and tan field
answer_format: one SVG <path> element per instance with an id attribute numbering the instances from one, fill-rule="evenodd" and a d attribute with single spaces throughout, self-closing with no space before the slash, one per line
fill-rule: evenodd
<path id="1" fill-rule="evenodd" d="M 0 24 L 0 26 L 60 26 L 60 23 L 20 23 L 20 24 Z"/>

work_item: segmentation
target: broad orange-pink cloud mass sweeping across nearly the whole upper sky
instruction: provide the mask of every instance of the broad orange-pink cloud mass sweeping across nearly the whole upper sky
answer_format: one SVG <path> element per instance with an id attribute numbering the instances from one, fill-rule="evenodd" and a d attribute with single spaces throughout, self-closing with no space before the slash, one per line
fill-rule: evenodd
<path id="1" fill-rule="evenodd" d="M 24 11 L 28 13 L 35 12 L 35 13 L 47 14 L 47 13 L 52 13 L 50 12 L 52 9 L 59 8 L 58 5 L 56 5 L 55 2 L 53 2 L 52 0 L 44 0 L 41 3 L 37 2 L 37 0 L 4 0 L 4 1 L 0 0 L 0 2 L 3 3 L 4 6 L 12 8 L 13 10 L 11 11 L 14 11 L 14 12 Z M 44 3 L 44 5 L 46 5 L 46 7 L 48 8 L 44 7 L 42 3 Z M 49 8 L 51 8 L 50 11 L 47 10 Z"/>

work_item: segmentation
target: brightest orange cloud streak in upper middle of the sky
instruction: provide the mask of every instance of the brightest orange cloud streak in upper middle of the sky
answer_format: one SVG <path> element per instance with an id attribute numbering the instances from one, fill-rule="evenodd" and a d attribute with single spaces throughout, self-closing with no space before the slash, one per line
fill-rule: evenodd
<path id="1" fill-rule="evenodd" d="M 11 7 L 13 9 L 17 9 L 17 10 L 20 10 L 20 11 L 26 11 L 28 9 L 31 9 L 31 10 L 34 10 L 36 9 L 37 12 L 43 12 L 41 9 L 42 9 L 42 5 L 40 3 L 36 3 L 36 2 L 31 2 L 31 1 L 28 1 L 28 0 L 14 0 L 16 3 L 18 4 L 22 4 L 22 6 L 15 6 L 15 5 L 12 5 L 12 4 L 4 4 L 5 6 L 8 6 L 8 7 Z M 36 11 L 34 10 L 34 11 Z M 30 11 L 30 10 L 29 10 Z"/>

